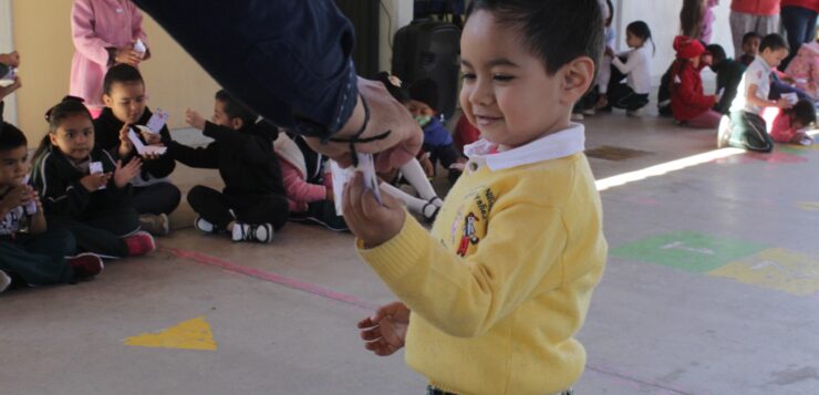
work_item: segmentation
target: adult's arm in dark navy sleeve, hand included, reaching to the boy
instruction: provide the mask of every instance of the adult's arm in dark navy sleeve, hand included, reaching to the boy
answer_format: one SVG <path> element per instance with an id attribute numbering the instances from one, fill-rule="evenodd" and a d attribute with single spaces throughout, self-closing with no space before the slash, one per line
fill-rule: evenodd
<path id="1" fill-rule="evenodd" d="M 342 166 L 351 145 L 331 137 L 367 138 L 354 147 L 379 154 L 380 170 L 418 152 L 423 134 L 406 108 L 383 84 L 355 75 L 353 28 L 332 0 L 134 2 L 235 97 Z"/>

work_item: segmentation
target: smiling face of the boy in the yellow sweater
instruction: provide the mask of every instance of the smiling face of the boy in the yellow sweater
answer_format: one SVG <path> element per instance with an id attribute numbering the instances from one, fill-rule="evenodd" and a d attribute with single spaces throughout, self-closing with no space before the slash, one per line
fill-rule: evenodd
<path id="1" fill-rule="evenodd" d="M 591 82 L 567 86 L 577 82 L 569 69 L 579 61 L 549 75 L 523 42 L 518 29 L 498 24 L 487 11 L 469 17 L 460 39 L 460 106 L 484 138 L 504 148 L 567 128 L 571 106 Z"/>

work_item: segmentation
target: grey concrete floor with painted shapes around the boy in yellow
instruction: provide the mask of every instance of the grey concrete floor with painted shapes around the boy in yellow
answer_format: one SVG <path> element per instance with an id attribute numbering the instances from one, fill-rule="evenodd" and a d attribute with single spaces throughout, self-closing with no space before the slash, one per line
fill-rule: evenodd
<path id="1" fill-rule="evenodd" d="M 712 132 L 651 115 L 585 125 L 590 149 L 645 152 L 592 158 L 599 179 L 714 149 Z M 816 163 L 819 150 L 785 147 L 604 190 L 611 258 L 580 333 L 578 394 L 819 394 Z M 217 177 L 174 175 L 185 188 Z M 186 206 L 172 220 L 151 257 L 0 295 L 0 394 L 424 392 L 402 355 L 359 341 L 355 322 L 393 298 L 351 236 L 290 224 L 272 245 L 232 243 L 197 233 Z M 197 318 L 217 350 L 125 345 Z"/>

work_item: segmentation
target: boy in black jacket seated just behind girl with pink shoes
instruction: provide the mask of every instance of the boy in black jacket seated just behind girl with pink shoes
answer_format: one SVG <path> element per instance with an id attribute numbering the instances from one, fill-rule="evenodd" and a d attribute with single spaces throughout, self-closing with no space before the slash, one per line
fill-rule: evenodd
<path id="1" fill-rule="evenodd" d="M 123 133 L 134 125 L 146 125 L 154 115 L 147 107 L 145 82 L 135 67 L 117 64 L 105 74 L 103 81 L 105 108 L 94 121 L 97 147 L 110 152 L 123 162 L 136 156 L 136 149 Z M 162 145 L 170 141 L 168 127 L 163 126 L 157 135 L 139 133 L 145 145 Z M 176 162 L 166 155 L 144 156 L 142 171 L 133 180 L 132 204 L 139 212 L 139 225 L 153 235 L 168 233 L 168 217 L 182 199 L 179 188 L 167 177 L 174 171 Z"/>

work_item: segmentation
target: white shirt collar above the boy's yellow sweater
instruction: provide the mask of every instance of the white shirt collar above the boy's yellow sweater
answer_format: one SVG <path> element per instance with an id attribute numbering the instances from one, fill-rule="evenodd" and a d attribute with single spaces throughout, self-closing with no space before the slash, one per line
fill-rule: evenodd
<path id="1" fill-rule="evenodd" d="M 488 166 L 493 171 L 505 170 L 582 153 L 585 149 L 585 128 L 581 124 L 571 123 L 568 128 L 529 144 L 504 152 L 498 152 L 497 148 L 497 144 L 485 139 L 465 146 L 464 153 L 469 158 L 467 169 L 475 171 L 481 166 Z"/>

